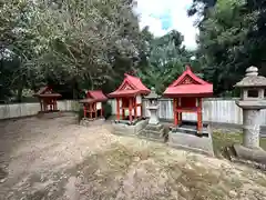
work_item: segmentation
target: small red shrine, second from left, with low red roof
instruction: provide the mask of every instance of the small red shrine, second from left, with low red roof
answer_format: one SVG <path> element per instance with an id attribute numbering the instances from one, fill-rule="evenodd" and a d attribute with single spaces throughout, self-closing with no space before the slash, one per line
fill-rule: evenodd
<path id="1" fill-rule="evenodd" d="M 103 117 L 103 102 L 108 101 L 102 90 L 89 90 L 86 98 L 80 102 L 83 104 L 84 118 L 96 119 Z"/>

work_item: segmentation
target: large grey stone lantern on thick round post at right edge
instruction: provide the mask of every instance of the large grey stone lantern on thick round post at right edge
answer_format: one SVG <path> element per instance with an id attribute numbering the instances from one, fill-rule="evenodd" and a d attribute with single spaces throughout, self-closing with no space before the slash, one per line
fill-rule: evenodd
<path id="1" fill-rule="evenodd" d="M 266 78 L 258 76 L 256 67 L 249 67 L 243 80 L 236 83 L 241 88 L 241 100 L 236 104 L 243 109 L 243 144 L 249 149 L 259 149 L 260 110 L 266 109 Z"/>

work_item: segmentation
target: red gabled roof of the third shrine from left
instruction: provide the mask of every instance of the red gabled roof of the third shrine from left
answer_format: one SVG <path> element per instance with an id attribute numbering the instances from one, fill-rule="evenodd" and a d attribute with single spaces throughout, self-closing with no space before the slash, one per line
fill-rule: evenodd
<path id="1" fill-rule="evenodd" d="M 110 93 L 109 97 L 126 97 L 135 94 L 147 94 L 151 91 L 142 83 L 141 79 L 137 77 L 124 74 L 125 78 L 120 84 L 119 89 Z"/>

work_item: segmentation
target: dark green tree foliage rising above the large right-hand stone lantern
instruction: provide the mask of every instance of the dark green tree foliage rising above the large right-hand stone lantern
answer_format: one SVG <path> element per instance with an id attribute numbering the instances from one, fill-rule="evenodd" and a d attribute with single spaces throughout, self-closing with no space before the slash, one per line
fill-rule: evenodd
<path id="1" fill-rule="evenodd" d="M 252 64 L 266 76 L 266 18 L 262 0 L 195 0 L 193 9 L 201 16 L 197 54 L 204 77 L 214 83 L 216 94 L 228 94 Z"/>

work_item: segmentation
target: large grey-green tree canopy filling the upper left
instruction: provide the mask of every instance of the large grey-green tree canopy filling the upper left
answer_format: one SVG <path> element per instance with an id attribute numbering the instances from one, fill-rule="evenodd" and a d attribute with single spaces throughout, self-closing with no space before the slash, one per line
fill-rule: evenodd
<path id="1" fill-rule="evenodd" d="M 102 86 L 112 90 L 109 86 L 140 60 L 133 7 L 127 0 L 1 1 L 0 60 L 17 60 L 0 69 L 1 99 L 48 83 L 71 86 L 73 93 Z"/>

